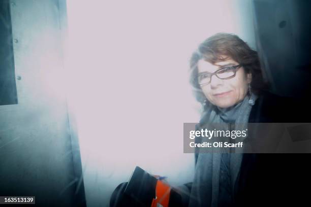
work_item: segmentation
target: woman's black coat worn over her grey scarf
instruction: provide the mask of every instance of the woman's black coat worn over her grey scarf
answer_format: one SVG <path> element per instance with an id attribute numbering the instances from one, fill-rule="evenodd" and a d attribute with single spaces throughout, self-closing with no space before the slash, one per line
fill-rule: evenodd
<path id="1" fill-rule="evenodd" d="M 309 123 L 309 111 L 302 101 L 264 92 L 252 107 L 248 122 Z M 310 163 L 311 154 L 244 154 L 235 206 L 311 205 Z"/>

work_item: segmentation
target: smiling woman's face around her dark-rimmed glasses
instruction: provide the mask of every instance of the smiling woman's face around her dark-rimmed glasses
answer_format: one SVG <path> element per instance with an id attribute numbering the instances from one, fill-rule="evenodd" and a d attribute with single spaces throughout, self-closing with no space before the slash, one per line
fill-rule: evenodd
<path id="1" fill-rule="evenodd" d="M 211 64 L 203 59 L 198 62 L 198 73 L 214 73 L 224 66 L 238 65 L 236 61 L 228 58 L 222 62 Z M 228 108 L 241 101 L 248 90 L 248 83 L 251 83 L 252 75 L 245 74 L 244 68 L 240 67 L 233 78 L 223 80 L 215 75 L 211 77 L 209 84 L 201 85 L 206 98 L 217 107 Z"/>

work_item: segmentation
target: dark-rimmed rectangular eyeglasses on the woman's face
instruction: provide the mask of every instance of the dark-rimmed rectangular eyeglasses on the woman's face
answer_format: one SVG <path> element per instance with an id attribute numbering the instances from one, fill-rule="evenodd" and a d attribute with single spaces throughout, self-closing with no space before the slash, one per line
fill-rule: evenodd
<path id="1" fill-rule="evenodd" d="M 240 68 L 241 65 L 233 65 L 233 66 L 227 66 L 227 67 L 223 67 L 220 68 L 219 70 L 215 71 L 214 73 L 201 73 L 198 76 L 198 80 L 199 80 L 199 85 L 205 85 L 205 84 L 209 84 L 211 81 L 211 77 L 213 75 L 217 76 L 217 78 L 219 79 L 223 79 L 223 80 L 227 80 L 230 78 L 233 78 L 238 70 L 238 68 Z"/>

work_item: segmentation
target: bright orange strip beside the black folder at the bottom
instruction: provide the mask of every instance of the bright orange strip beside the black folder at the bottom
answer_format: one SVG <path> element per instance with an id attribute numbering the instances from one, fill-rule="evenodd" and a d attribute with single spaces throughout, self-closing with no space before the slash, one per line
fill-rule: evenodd
<path id="1" fill-rule="evenodd" d="M 153 198 L 151 207 L 157 207 L 158 203 L 163 207 L 168 207 L 170 200 L 170 186 L 166 185 L 162 181 L 158 180 L 157 186 L 155 187 L 155 199 Z"/>

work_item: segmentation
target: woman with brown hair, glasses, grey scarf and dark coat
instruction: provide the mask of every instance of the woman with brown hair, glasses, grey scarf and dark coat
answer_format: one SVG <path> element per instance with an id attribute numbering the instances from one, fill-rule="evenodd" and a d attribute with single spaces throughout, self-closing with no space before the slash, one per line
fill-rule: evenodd
<path id="1" fill-rule="evenodd" d="M 234 34 L 217 33 L 200 44 L 191 58 L 191 84 L 203 106 L 198 128 L 206 123 L 232 130 L 232 123 L 308 122 L 308 116 L 297 113 L 294 100 L 267 92 L 257 52 Z M 197 150 L 195 158 L 191 207 L 280 204 L 289 198 L 298 202 L 305 198 L 301 188 L 310 182 L 303 163 L 309 154 Z"/>

